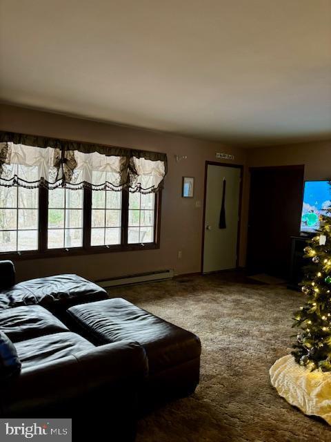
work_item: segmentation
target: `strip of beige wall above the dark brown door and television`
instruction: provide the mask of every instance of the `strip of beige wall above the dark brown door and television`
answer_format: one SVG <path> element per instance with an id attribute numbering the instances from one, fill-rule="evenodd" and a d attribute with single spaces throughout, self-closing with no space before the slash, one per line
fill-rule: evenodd
<path id="1" fill-rule="evenodd" d="M 248 166 L 304 164 L 305 180 L 330 180 L 331 140 L 254 148 L 248 151 Z"/>

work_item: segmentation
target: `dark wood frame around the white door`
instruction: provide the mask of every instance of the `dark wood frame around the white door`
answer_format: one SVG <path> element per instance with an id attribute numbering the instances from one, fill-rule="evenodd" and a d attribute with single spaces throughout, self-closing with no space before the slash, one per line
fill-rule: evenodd
<path id="1" fill-rule="evenodd" d="M 241 228 L 241 208 L 243 200 L 243 164 L 229 164 L 224 162 L 216 161 L 206 161 L 205 162 L 205 181 L 204 181 L 204 191 L 203 191 L 203 220 L 202 220 L 202 247 L 201 247 L 201 273 L 203 273 L 203 255 L 205 249 L 205 206 L 207 202 L 207 174 L 208 166 L 221 166 L 221 167 L 232 167 L 235 169 L 240 169 L 240 186 L 239 186 L 239 217 L 238 217 L 238 229 L 237 229 L 237 260 L 236 268 L 239 267 L 239 249 L 240 249 L 240 228 Z M 218 273 L 219 271 L 214 271 L 210 273 Z M 209 272 L 208 272 L 209 273 Z"/>

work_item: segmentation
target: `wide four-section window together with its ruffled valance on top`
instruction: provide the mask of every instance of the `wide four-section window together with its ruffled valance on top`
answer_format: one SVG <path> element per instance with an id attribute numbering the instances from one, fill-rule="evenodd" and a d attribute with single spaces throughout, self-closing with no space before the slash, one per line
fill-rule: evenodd
<path id="1" fill-rule="evenodd" d="M 159 247 L 165 153 L 0 131 L 1 258 Z"/>

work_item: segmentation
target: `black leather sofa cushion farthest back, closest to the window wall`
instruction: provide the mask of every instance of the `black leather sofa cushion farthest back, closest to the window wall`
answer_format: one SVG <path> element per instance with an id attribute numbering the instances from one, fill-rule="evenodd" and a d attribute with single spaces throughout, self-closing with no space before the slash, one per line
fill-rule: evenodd
<path id="1" fill-rule="evenodd" d="M 0 309 L 35 304 L 49 309 L 54 305 L 58 307 L 64 305 L 68 308 L 77 302 L 106 298 L 108 298 L 106 290 L 81 276 L 56 275 L 19 282 L 9 289 L 1 290 Z"/>

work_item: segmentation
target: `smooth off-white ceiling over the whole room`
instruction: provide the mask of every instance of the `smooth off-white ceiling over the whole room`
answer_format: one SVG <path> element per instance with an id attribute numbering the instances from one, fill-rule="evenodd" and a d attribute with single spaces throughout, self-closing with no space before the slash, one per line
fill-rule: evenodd
<path id="1" fill-rule="evenodd" d="M 263 146 L 331 138 L 331 0 L 0 0 L 0 100 Z"/>

